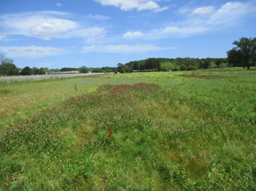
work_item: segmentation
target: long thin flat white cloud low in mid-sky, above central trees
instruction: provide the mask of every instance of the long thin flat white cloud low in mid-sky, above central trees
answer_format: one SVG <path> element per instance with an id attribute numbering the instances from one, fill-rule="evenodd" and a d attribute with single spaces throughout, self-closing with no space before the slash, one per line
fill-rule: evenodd
<path id="1" fill-rule="evenodd" d="M 83 52 L 106 52 L 106 53 L 142 53 L 148 51 L 159 51 L 163 49 L 175 49 L 176 47 L 158 47 L 152 44 L 135 44 L 130 46 L 127 44 L 120 45 L 97 45 L 97 46 L 85 46 L 83 47 Z"/>

